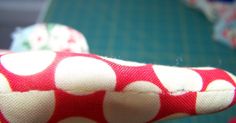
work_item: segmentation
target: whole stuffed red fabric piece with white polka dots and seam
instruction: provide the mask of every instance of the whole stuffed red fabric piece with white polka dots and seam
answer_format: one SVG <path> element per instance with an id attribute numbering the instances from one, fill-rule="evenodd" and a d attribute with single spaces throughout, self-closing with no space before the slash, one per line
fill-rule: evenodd
<path id="1" fill-rule="evenodd" d="M 52 51 L 0 55 L 2 123 L 145 123 L 235 103 L 236 77 L 217 68 Z"/>

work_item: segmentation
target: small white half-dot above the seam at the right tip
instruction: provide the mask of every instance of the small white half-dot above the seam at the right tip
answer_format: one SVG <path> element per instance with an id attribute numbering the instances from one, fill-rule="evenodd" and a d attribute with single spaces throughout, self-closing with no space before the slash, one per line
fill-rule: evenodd
<path id="1" fill-rule="evenodd" d="M 206 91 L 227 91 L 234 90 L 235 87 L 225 80 L 215 80 L 212 81 L 208 86 Z"/>

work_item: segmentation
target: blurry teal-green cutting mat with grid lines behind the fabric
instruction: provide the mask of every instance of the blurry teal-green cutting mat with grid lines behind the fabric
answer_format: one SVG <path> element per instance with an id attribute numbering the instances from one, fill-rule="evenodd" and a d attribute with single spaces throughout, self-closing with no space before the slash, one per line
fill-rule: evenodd
<path id="1" fill-rule="evenodd" d="M 215 66 L 236 74 L 236 50 L 212 40 L 213 24 L 177 0 L 52 0 L 45 22 L 80 30 L 91 53 L 176 66 Z M 162 123 L 225 123 L 236 107 Z"/>

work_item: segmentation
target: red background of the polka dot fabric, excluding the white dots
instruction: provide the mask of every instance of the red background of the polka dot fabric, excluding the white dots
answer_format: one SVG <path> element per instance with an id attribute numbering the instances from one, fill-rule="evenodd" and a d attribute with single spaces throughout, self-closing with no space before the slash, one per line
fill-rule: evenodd
<path id="1" fill-rule="evenodd" d="M 1 57 L 4 56 L 5 55 L 2 55 Z M 102 89 L 102 90 L 96 90 L 95 92 L 90 94 L 79 95 L 79 94 L 71 94 L 64 91 L 62 88 L 58 88 L 58 85 L 56 85 L 55 82 L 56 81 L 55 72 L 59 64 L 62 63 L 63 60 L 73 57 L 89 58 L 91 60 L 98 61 L 99 63 L 101 62 L 106 64 L 107 66 L 110 66 L 111 70 L 114 71 L 115 73 L 116 83 L 114 90 Z M 183 68 L 183 69 L 190 70 L 190 72 L 195 71 L 197 73 L 196 75 L 202 78 L 201 90 L 191 91 L 183 89 L 182 92 L 180 90 L 176 90 L 176 92 L 171 92 L 160 80 L 158 74 L 156 73 L 156 71 L 158 72 L 158 69 L 155 71 L 154 65 L 147 64 L 141 66 L 127 66 L 115 63 L 112 60 L 100 56 L 90 55 L 90 54 L 56 53 L 55 59 L 49 66 L 47 66 L 43 71 L 33 75 L 17 75 L 14 72 L 9 71 L 7 67 L 4 66 L 3 62 L 0 63 L 0 73 L 3 74 L 4 77 L 7 79 L 7 81 L 9 82 L 11 92 L 29 92 L 34 90 L 40 93 L 43 91 L 53 90 L 55 98 L 55 104 L 54 104 L 55 107 L 53 107 L 54 111 L 51 117 L 48 119 L 48 122 L 50 123 L 58 122 L 68 117 L 83 117 L 91 119 L 96 122 L 101 122 L 101 123 L 108 122 L 107 120 L 108 116 L 104 116 L 104 105 L 105 105 L 104 100 L 106 98 L 106 94 L 113 92 L 119 92 L 121 94 L 136 93 L 137 95 L 147 94 L 147 96 L 152 96 L 152 94 L 154 94 L 156 97 L 158 97 L 159 99 L 158 105 L 160 106 L 160 108 L 154 109 L 158 110 L 157 113 L 154 115 L 153 118 L 149 118 L 146 122 L 160 120 L 162 118 L 177 113 L 196 115 L 198 114 L 196 112 L 196 108 L 198 107 L 196 104 L 196 100 L 198 98 L 198 92 L 207 91 L 206 89 L 211 82 L 213 82 L 214 80 L 224 80 L 228 82 L 230 85 L 232 85 L 234 88 L 236 87 L 236 82 L 233 80 L 233 78 L 223 70 L 220 69 L 202 70 L 197 68 Z M 101 69 L 101 72 L 102 71 L 103 70 Z M 171 74 L 175 73 L 173 72 Z M 93 77 L 93 75 L 91 75 L 91 77 Z M 171 75 L 169 77 L 171 77 Z M 161 92 L 153 90 L 146 92 L 141 90 L 140 92 L 137 90 L 129 92 L 126 90 L 127 89 L 126 87 L 128 85 L 131 85 L 132 83 L 135 83 L 137 81 L 145 81 L 147 83 L 150 83 L 154 85 L 156 88 L 159 88 Z M 87 90 L 87 91 L 93 91 L 93 90 Z M 235 89 L 233 91 L 234 91 L 233 95 L 234 98 L 231 101 L 230 106 L 232 106 L 236 102 L 235 98 L 236 91 Z M 221 90 L 219 90 L 219 93 L 220 92 Z M 125 101 L 126 100 L 124 100 L 124 102 Z M 121 104 L 117 103 L 114 105 L 120 106 L 122 105 L 122 103 Z M 129 106 L 129 105 L 124 105 L 124 106 Z M 228 108 L 228 106 L 226 107 Z M 146 109 L 143 110 L 145 111 Z M 3 123 L 9 122 L 9 119 L 7 119 L 4 115 L 5 114 L 2 114 L 1 111 L 0 121 Z M 37 117 L 35 119 L 37 119 Z M 233 122 L 234 121 L 232 121 L 231 123 Z"/>

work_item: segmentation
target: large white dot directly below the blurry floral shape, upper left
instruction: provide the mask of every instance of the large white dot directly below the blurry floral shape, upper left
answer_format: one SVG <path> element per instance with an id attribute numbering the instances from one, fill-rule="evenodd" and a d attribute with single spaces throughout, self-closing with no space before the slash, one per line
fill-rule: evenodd
<path id="1" fill-rule="evenodd" d="M 49 51 L 22 52 L 1 57 L 2 65 L 17 75 L 33 75 L 46 69 L 56 54 Z"/>

